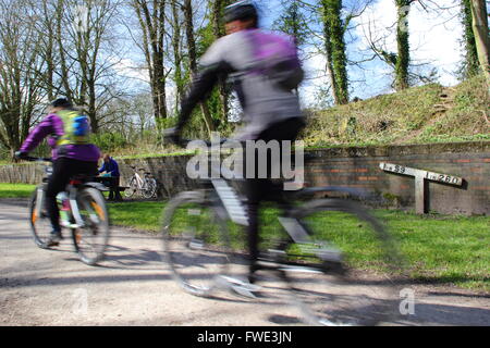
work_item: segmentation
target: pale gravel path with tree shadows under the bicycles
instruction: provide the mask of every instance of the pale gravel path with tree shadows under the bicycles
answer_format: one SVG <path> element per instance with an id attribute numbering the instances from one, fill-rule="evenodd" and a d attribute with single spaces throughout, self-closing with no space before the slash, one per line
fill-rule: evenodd
<path id="1" fill-rule="evenodd" d="M 113 228 L 108 259 L 90 268 L 69 238 L 37 248 L 25 200 L 0 201 L 0 325 L 231 325 L 302 324 L 279 299 L 252 301 L 231 294 L 183 293 L 160 261 L 160 239 Z M 490 296 L 454 288 L 407 286 L 415 314 L 395 325 L 490 325 Z"/>

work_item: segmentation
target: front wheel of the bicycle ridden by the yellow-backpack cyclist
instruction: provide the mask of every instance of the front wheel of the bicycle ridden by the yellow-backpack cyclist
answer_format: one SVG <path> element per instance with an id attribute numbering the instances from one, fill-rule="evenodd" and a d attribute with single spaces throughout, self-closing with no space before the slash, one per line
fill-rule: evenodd
<path id="1" fill-rule="evenodd" d="M 48 240 L 51 236 L 51 223 L 46 211 L 45 186 L 38 186 L 30 196 L 29 224 L 34 236 L 34 243 L 41 249 L 49 249 Z M 41 194 L 41 195 L 39 195 Z M 38 209 L 38 204 L 41 204 Z"/>

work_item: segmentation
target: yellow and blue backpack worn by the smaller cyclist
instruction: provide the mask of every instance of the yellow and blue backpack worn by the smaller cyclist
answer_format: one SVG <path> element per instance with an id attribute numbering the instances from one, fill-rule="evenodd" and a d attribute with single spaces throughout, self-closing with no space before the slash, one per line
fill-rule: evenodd
<path id="1" fill-rule="evenodd" d="M 63 121 L 64 130 L 63 136 L 58 139 L 58 146 L 89 144 L 91 128 L 86 115 L 72 110 L 62 110 L 57 114 Z"/>

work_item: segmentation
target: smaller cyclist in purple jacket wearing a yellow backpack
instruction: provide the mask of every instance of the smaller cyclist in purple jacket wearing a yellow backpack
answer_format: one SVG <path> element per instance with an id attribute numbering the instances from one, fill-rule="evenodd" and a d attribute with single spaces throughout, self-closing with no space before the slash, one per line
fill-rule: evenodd
<path id="1" fill-rule="evenodd" d="M 46 190 L 46 209 L 52 226 L 49 247 L 58 246 L 62 239 L 57 195 L 65 189 L 73 176 L 97 174 L 100 151 L 89 142 L 89 132 L 88 117 L 81 115 L 66 99 L 60 98 L 51 103 L 49 114 L 16 152 L 20 159 L 25 158 L 49 136 L 53 159 L 53 172 Z"/>

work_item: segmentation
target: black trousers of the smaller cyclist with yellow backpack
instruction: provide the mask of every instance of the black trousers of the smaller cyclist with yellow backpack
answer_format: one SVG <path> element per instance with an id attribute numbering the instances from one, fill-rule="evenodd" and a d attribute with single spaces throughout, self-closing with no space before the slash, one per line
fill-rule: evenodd
<path id="1" fill-rule="evenodd" d="M 85 162 L 64 157 L 54 161 L 52 175 L 46 189 L 46 210 L 54 232 L 61 232 L 57 195 L 66 188 L 73 176 L 81 174 L 97 175 L 97 162 Z"/>

